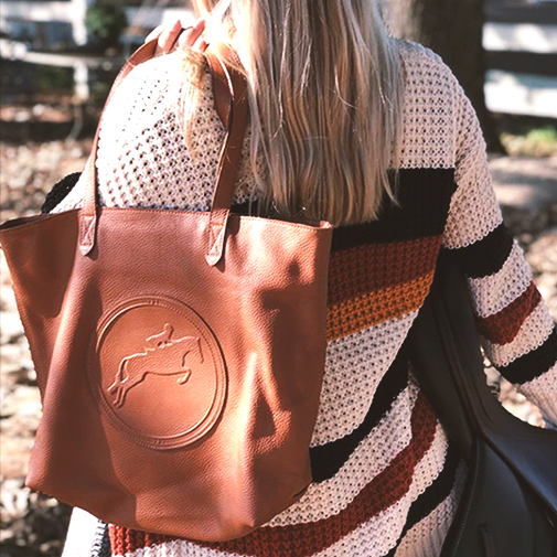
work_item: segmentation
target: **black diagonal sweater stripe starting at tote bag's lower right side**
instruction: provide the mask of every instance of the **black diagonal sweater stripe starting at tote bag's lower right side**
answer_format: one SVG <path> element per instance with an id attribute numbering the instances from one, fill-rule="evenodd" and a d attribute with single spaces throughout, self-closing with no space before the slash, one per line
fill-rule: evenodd
<path id="1" fill-rule="evenodd" d="M 325 444 L 310 448 L 313 482 L 331 479 L 346 463 L 357 446 L 372 432 L 392 408 L 397 396 L 408 386 L 408 360 L 400 350 L 383 376 L 362 424 L 351 433 Z"/>

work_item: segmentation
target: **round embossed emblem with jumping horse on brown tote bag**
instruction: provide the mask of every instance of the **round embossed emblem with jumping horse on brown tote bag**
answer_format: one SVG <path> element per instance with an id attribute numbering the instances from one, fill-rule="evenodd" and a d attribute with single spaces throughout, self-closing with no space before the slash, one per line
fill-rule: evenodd
<path id="1" fill-rule="evenodd" d="M 215 335 L 192 308 L 170 298 L 133 299 L 110 312 L 92 342 L 88 374 L 113 425 L 153 449 L 197 441 L 226 397 Z"/>

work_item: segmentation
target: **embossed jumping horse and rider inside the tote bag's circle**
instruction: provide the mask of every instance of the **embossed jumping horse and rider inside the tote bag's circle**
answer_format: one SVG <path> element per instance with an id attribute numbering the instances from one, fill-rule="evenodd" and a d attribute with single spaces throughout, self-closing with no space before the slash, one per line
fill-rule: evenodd
<path id="1" fill-rule="evenodd" d="M 161 333 L 153 334 L 146 340 L 144 352 L 126 356 L 118 367 L 115 382 L 107 388 L 115 396 L 114 406 L 120 408 L 126 401 L 129 389 L 139 385 L 148 374 L 181 375 L 179 385 L 185 385 L 192 375 L 186 365 L 190 354 L 197 364 L 203 363 L 203 353 L 197 336 L 172 339 L 174 328 L 167 323 Z"/>

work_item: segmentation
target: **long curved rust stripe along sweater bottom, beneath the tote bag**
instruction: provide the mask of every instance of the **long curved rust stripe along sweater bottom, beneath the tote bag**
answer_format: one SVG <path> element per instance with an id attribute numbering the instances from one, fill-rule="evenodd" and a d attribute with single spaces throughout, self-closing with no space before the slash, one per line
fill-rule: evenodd
<path id="1" fill-rule="evenodd" d="M 200 545 L 253 557 L 309 557 L 332 546 L 408 493 L 416 464 L 431 447 L 437 428 L 437 418 L 421 393 L 416 399 L 410 424 L 410 443 L 340 513 L 311 523 L 265 526 L 238 539 Z M 110 527 L 110 537 L 118 555 L 175 539 L 118 526 Z"/>

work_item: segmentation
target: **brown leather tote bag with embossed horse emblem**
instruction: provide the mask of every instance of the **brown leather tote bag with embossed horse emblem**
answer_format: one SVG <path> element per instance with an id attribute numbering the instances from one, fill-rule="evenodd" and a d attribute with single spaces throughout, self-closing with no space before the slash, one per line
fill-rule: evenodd
<path id="1" fill-rule="evenodd" d="M 247 120 L 233 55 L 206 55 L 228 130 L 211 212 L 97 206 L 97 131 L 84 208 L 0 228 L 43 404 L 28 485 L 199 540 L 304 492 L 325 354 L 332 227 L 229 212 Z"/>

